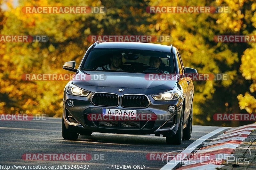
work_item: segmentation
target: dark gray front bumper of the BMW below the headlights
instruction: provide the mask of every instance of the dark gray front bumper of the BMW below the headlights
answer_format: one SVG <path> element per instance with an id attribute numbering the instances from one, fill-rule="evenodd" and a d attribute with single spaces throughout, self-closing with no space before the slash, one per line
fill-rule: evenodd
<path id="1" fill-rule="evenodd" d="M 148 96 L 150 105 L 147 108 L 124 108 L 119 102 L 119 106 L 114 109 L 137 110 L 139 114 L 155 115 L 156 119 L 147 119 L 141 121 L 97 121 L 89 118 L 90 114 L 102 114 L 102 108 L 113 108 L 95 106 L 89 100 L 93 94 L 88 97 L 69 95 L 64 92 L 63 98 L 63 118 L 67 129 L 76 132 L 91 130 L 93 132 L 103 133 L 122 133 L 122 134 L 155 134 L 156 136 L 172 136 L 176 134 L 180 122 L 180 113 L 182 107 L 182 97 L 173 101 L 156 101 Z M 122 94 L 123 95 L 123 94 Z M 120 101 L 121 96 L 120 95 Z M 68 107 L 67 101 L 73 100 L 74 106 Z M 168 107 L 173 105 L 176 109 L 173 113 L 168 111 Z M 69 119 L 72 117 L 73 120 Z M 71 120 L 71 121 L 70 121 Z M 172 123 L 170 123 L 172 120 Z M 169 122 L 168 122 L 169 121 Z M 102 123 L 103 122 L 103 123 Z"/>

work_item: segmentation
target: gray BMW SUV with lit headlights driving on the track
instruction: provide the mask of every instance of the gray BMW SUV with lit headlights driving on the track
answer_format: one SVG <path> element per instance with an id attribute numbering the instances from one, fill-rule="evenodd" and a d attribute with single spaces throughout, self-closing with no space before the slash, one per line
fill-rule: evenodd
<path id="1" fill-rule="evenodd" d="M 92 44 L 63 97 L 62 137 L 93 132 L 155 134 L 181 144 L 192 132 L 197 71 L 184 68 L 177 48 L 141 42 Z"/>

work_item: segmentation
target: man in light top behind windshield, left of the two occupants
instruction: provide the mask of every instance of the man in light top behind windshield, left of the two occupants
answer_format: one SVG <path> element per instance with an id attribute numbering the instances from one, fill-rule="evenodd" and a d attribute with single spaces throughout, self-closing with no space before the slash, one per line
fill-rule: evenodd
<path id="1" fill-rule="evenodd" d="M 98 67 L 96 70 L 117 70 L 122 71 L 120 68 L 120 65 L 122 64 L 122 54 L 116 53 L 110 57 L 110 64 L 103 65 L 101 67 Z"/>

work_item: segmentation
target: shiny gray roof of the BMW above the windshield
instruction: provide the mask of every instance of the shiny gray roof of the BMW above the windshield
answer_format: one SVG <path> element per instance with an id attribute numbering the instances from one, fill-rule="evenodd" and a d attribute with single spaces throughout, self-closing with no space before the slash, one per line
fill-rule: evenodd
<path id="1" fill-rule="evenodd" d="M 139 49 L 139 50 L 170 52 L 171 47 L 167 45 L 144 43 L 144 42 L 101 42 L 96 44 L 93 47 L 93 49 L 94 48 L 123 48 L 123 49 Z"/>

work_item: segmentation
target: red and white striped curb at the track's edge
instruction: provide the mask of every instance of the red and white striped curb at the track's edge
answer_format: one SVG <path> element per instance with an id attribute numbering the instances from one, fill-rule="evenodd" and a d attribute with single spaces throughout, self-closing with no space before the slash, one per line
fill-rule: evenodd
<path id="1" fill-rule="evenodd" d="M 238 145 L 241 144 L 254 129 L 256 129 L 256 124 L 239 126 L 237 128 L 227 130 L 220 136 L 214 138 L 211 142 L 204 144 L 203 147 L 193 154 L 210 155 L 207 159 L 195 160 L 193 164 L 183 165 L 177 169 L 214 170 L 225 166 L 223 163 L 227 160 L 227 156 L 232 155 Z"/>

